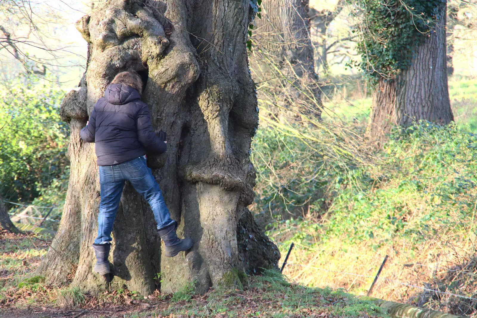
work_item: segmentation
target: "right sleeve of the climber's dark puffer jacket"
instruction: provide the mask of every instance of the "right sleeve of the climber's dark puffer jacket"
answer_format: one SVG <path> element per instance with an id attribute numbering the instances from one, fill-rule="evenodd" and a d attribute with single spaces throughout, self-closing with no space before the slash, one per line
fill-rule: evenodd
<path id="1" fill-rule="evenodd" d="M 144 103 L 141 104 L 143 106 L 139 109 L 136 118 L 137 137 L 148 153 L 160 155 L 166 152 L 167 144 L 159 137 L 156 137 L 156 132 L 151 123 L 149 107 Z"/>

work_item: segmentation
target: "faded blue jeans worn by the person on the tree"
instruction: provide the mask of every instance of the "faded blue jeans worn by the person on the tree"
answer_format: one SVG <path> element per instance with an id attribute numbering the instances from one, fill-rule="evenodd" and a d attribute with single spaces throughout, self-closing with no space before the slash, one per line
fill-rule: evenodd
<path id="1" fill-rule="evenodd" d="M 98 215 L 98 237 L 94 244 L 104 244 L 112 241 L 114 217 L 116 216 L 123 192 L 124 181 L 129 180 L 134 189 L 149 203 L 156 219 L 157 229 L 162 229 L 172 223 L 162 191 L 146 159 L 139 157 L 114 166 L 99 167 L 99 182 L 101 185 L 101 201 Z"/>

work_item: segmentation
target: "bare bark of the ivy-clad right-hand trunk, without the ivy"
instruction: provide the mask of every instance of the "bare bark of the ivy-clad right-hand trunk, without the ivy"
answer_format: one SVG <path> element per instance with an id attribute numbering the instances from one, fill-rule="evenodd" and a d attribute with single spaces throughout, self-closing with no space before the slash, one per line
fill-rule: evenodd
<path id="1" fill-rule="evenodd" d="M 419 120 L 446 125 L 454 120 L 447 85 L 446 6 L 436 28 L 415 51 L 409 69 L 395 79 L 380 79 L 373 100 L 371 136 L 383 138 L 394 124 Z"/>

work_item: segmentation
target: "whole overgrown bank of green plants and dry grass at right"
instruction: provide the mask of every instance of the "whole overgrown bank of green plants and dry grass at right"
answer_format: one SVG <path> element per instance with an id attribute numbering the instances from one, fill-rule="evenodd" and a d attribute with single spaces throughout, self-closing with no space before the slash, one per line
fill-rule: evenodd
<path id="1" fill-rule="evenodd" d="M 255 211 L 282 254 L 295 243 L 287 276 L 365 294 L 389 255 L 374 296 L 473 315 L 477 138 L 469 127 L 396 130 L 370 163 L 326 158 L 311 140 L 287 142 L 266 127 L 255 142 Z M 305 158 L 319 177 L 296 171 Z"/>

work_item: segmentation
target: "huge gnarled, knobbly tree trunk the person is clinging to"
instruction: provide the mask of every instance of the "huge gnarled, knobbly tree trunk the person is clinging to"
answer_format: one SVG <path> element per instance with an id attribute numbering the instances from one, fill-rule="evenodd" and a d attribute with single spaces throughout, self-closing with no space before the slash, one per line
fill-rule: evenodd
<path id="1" fill-rule="evenodd" d="M 112 286 L 149 295 L 161 273 L 163 292 L 193 281 L 205 291 L 239 284 L 239 272 L 276 268 L 280 253 L 246 208 L 254 197 L 249 149 L 258 126 L 246 49 L 252 12 L 249 0 L 110 0 L 77 22 L 88 62 L 81 89 L 62 103 L 62 120 L 71 127 L 71 176 L 57 237 L 38 269 L 47 279 L 71 279 L 90 292 L 105 287 L 92 272 L 90 247 L 98 169 L 93 144 L 83 143 L 79 131 L 114 75 L 126 69 L 147 80 L 142 99 L 156 129 L 167 132 L 166 154 L 148 156 L 148 165 L 179 222 L 178 235 L 192 237 L 194 246 L 174 258 L 161 255 L 153 214 L 126 183 L 113 228 Z"/>

